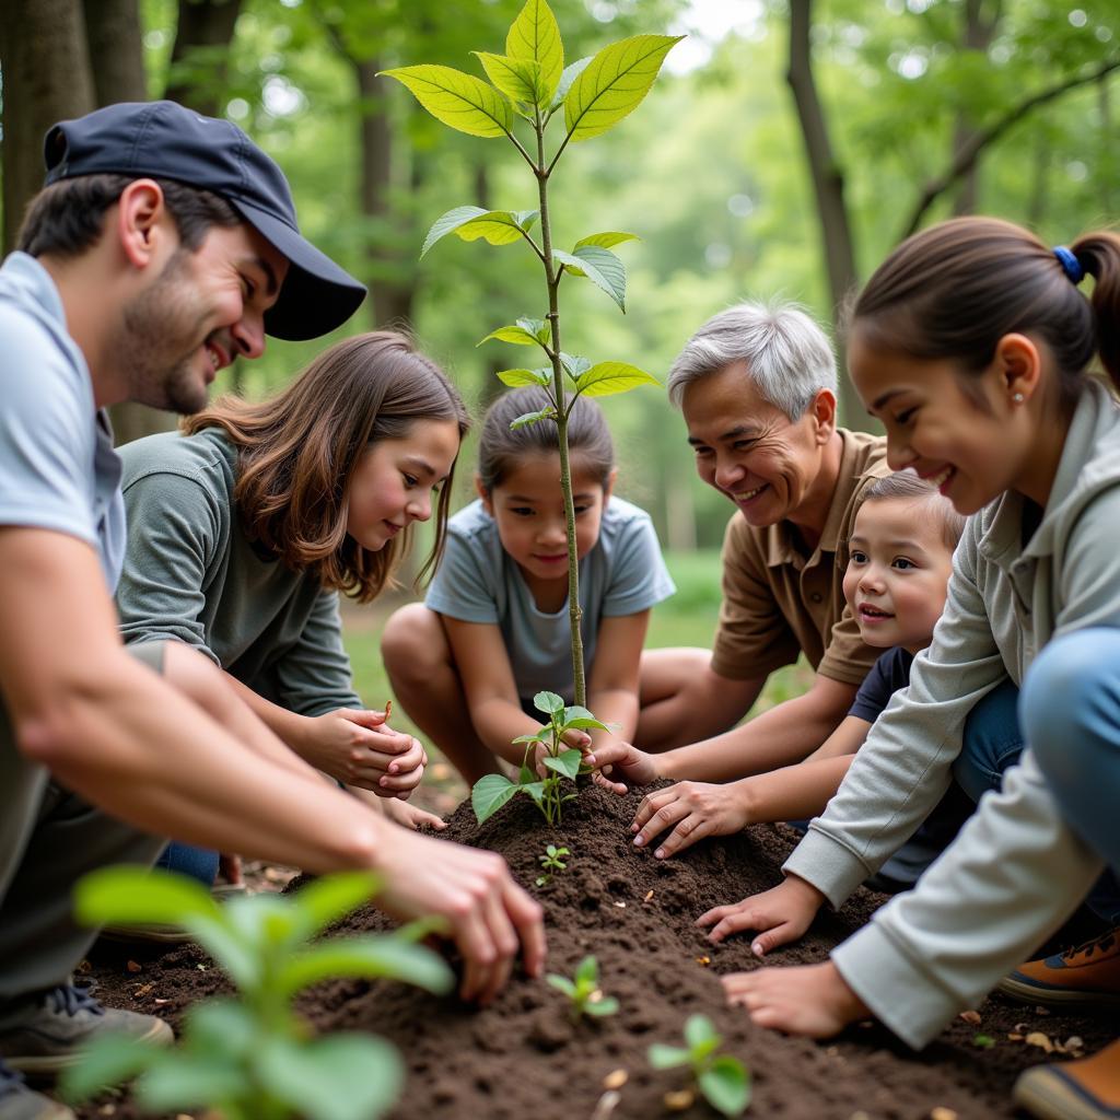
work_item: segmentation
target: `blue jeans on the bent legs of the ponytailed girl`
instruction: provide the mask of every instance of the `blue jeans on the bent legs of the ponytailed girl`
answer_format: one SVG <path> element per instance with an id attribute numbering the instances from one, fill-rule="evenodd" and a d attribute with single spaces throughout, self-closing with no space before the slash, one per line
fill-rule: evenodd
<path id="1" fill-rule="evenodd" d="M 1032 744 L 1071 827 L 1112 867 L 1120 867 L 1114 823 L 1120 809 L 1120 631 L 1079 631 L 1058 638 L 1035 661 L 1021 696 L 1010 681 L 989 692 L 965 721 L 953 764 L 958 785 L 973 801 L 999 790 L 1005 771 L 1019 760 L 1024 740 Z M 1112 855 L 1079 827 L 1086 814 L 1102 844 L 1109 837 Z M 1107 922 L 1120 922 L 1116 875 L 1105 871 L 1085 902 Z"/>

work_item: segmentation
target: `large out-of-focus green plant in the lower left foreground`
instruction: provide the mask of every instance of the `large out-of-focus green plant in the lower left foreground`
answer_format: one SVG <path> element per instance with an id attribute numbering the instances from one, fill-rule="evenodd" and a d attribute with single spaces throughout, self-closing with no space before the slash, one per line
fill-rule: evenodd
<path id="1" fill-rule="evenodd" d="M 188 930 L 237 988 L 192 1007 L 180 1043 L 161 1048 L 124 1036 L 88 1046 L 63 1075 L 72 1101 L 137 1077 L 144 1111 L 216 1109 L 224 1120 L 372 1120 L 396 1100 L 404 1074 L 396 1049 L 370 1035 L 316 1037 L 291 1008 L 304 988 L 334 977 L 388 977 L 431 992 L 452 986 L 447 964 L 414 942 L 432 922 L 392 934 L 312 943 L 367 902 L 377 879 L 328 876 L 295 896 L 260 894 L 218 906 L 199 884 L 167 871 L 110 867 L 82 879 L 87 925 L 155 922 Z"/>

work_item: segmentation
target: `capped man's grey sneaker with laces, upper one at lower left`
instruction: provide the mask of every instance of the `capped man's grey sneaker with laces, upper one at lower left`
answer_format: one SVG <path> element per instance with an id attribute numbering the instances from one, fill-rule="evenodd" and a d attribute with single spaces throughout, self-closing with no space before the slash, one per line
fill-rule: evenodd
<path id="1" fill-rule="evenodd" d="M 171 1028 L 155 1015 L 102 1007 L 88 992 L 63 984 L 6 1016 L 0 1061 L 34 1077 L 53 1076 L 74 1064 L 84 1042 L 111 1032 L 157 1046 L 169 1046 L 175 1039 Z"/>

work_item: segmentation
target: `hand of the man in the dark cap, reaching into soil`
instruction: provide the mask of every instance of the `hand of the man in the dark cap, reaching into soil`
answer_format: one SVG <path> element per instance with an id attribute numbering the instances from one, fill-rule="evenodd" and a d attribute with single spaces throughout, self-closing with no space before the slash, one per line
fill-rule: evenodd
<path id="1" fill-rule="evenodd" d="M 501 856 L 386 829 L 375 868 L 385 887 L 377 905 L 398 918 L 436 915 L 463 953 L 459 995 L 488 1004 L 505 986 L 519 941 L 531 977 L 544 971 L 544 924 Z"/>

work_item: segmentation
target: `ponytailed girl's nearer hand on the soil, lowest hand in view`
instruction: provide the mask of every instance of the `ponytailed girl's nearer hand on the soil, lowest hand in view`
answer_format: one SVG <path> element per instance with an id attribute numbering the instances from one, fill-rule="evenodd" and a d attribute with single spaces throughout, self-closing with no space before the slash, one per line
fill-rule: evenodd
<path id="1" fill-rule="evenodd" d="M 871 1015 L 831 961 L 731 972 L 720 982 L 728 1004 L 745 1007 L 752 1023 L 787 1035 L 830 1038 Z"/>

